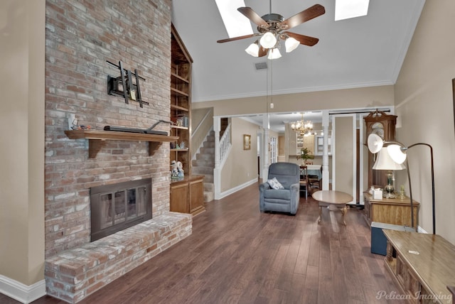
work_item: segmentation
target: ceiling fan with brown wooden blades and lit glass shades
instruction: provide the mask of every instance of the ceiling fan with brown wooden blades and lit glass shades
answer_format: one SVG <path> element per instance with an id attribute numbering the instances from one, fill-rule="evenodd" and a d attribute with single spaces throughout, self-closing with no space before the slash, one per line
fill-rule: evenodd
<path id="1" fill-rule="evenodd" d="M 269 56 L 267 57 L 269 59 L 277 59 L 281 57 L 281 54 L 279 53 L 279 40 L 285 40 L 287 53 L 295 50 L 299 44 L 313 46 L 318 43 L 318 38 L 292 33 L 287 30 L 326 13 L 326 9 L 324 9 L 323 6 L 315 4 L 314 6 L 311 6 L 308 9 L 284 20 L 282 15 L 272 13 L 272 0 L 270 0 L 270 13 L 267 13 L 262 17 L 248 6 L 240 7 L 237 11 L 240 11 L 240 13 L 255 23 L 259 33 L 222 39 L 217 42 L 225 43 L 255 36 L 262 36 L 252 43 L 245 51 L 254 57 L 262 57 L 267 55 L 267 52 L 270 50 Z"/>

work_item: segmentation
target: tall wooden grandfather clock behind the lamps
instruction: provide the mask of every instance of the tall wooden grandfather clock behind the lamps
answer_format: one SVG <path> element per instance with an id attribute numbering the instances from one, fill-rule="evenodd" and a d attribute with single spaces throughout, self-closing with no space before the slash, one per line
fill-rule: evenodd
<path id="1" fill-rule="evenodd" d="M 365 145 L 370 134 L 379 135 L 384 141 L 395 141 L 395 124 L 397 123 L 396 115 L 385 114 L 378 111 L 371 112 L 363 118 L 366 124 Z M 376 161 L 375 154 L 368 151 L 368 188 L 372 185 L 380 188 L 387 185 L 387 175 L 385 170 L 373 170 Z"/>

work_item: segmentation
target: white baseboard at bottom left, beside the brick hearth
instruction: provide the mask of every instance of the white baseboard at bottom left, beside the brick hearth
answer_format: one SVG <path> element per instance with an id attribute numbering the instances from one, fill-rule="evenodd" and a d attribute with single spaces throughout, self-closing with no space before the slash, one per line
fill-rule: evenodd
<path id="1" fill-rule="evenodd" d="M 12 278 L 0 275 L 0 293 L 21 303 L 31 303 L 45 295 L 45 280 L 26 286 Z"/>

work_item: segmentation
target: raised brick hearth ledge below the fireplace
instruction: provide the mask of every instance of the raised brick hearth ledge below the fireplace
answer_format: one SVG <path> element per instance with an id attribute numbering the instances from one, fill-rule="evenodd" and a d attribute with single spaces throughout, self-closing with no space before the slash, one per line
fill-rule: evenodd
<path id="1" fill-rule="evenodd" d="M 191 215 L 169 212 L 45 260 L 46 292 L 77 303 L 191 234 Z"/>

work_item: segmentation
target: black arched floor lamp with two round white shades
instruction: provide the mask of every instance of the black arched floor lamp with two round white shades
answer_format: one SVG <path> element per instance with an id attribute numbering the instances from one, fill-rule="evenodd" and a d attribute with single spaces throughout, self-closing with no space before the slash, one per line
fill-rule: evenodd
<path id="1" fill-rule="evenodd" d="M 433 162 L 433 148 L 428 143 L 414 143 L 411 146 L 405 146 L 398 141 L 382 141 L 380 136 L 376 134 L 370 134 L 368 136 L 368 149 L 371 153 L 378 153 L 382 146 L 387 146 L 387 152 L 390 157 L 396 163 L 402 164 L 404 162 L 407 171 L 407 180 L 410 186 L 410 201 L 411 201 L 411 225 L 414 227 L 414 207 L 412 205 L 412 188 L 411 188 L 411 175 L 410 175 L 410 166 L 407 162 L 407 150 L 414 146 L 427 146 L 430 150 L 431 156 L 431 165 L 432 165 L 432 211 L 433 211 L 433 234 L 436 234 L 436 212 L 435 212 L 435 200 L 434 200 L 434 162 Z M 417 229 L 417 227 L 416 227 Z"/>

